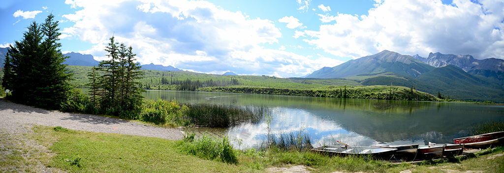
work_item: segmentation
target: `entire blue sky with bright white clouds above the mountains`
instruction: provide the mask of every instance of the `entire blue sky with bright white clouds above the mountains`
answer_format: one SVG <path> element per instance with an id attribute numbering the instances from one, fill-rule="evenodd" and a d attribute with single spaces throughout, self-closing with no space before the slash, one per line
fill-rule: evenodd
<path id="1" fill-rule="evenodd" d="M 301 77 L 383 50 L 504 59 L 503 0 L 3 0 L 0 47 L 50 13 L 64 53 L 107 60 L 114 36 L 141 64 L 209 74 Z"/>

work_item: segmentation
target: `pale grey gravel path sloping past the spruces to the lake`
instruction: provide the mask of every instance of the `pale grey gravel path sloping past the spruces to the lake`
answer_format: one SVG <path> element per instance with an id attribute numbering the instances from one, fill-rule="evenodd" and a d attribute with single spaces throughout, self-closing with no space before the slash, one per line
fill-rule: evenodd
<path id="1" fill-rule="evenodd" d="M 142 123 L 90 114 L 44 110 L 0 98 L 0 129 L 10 134 L 23 133 L 26 128 L 22 127 L 26 124 L 61 126 L 72 130 L 138 135 L 170 140 L 183 138 L 182 132 L 178 129 L 146 126 Z"/>

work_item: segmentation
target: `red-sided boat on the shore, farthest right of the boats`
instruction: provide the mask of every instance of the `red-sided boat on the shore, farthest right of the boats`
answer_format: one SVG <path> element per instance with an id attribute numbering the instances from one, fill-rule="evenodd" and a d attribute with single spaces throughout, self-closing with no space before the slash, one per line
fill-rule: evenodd
<path id="1" fill-rule="evenodd" d="M 453 141 L 455 144 L 464 144 L 467 148 L 484 148 L 504 143 L 504 131 L 456 138 Z"/>

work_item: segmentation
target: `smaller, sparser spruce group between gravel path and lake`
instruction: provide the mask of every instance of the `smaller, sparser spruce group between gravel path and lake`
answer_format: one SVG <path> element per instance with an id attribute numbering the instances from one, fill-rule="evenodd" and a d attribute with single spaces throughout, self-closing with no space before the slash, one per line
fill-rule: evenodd
<path id="1" fill-rule="evenodd" d="M 100 62 L 96 68 L 104 74 L 102 76 L 98 76 L 98 72 L 88 74 L 90 82 L 88 85 L 93 90 L 90 94 L 99 98 L 95 99 L 97 100 L 95 105 L 99 105 L 104 113 L 136 119 L 144 98 L 142 96 L 144 90 L 139 87 L 138 82 L 143 73 L 139 71 L 140 66 L 135 63 L 136 54 L 133 53 L 133 47 L 127 47 L 124 43 L 118 44 L 113 36 L 109 40 L 105 51 L 108 52 L 110 60 Z"/>

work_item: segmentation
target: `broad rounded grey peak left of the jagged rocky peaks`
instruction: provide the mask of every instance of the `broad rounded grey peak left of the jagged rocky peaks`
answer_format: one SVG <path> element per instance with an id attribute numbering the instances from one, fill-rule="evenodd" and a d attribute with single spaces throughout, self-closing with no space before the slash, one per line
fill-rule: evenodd
<path id="1" fill-rule="evenodd" d="M 359 74 L 375 74 L 393 72 L 409 77 L 417 77 L 434 69 L 410 55 L 402 55 L 393 51 L 384 50 L 369 56 L 350 60 L 333 68 L 324 67 L 313 72 L 306 78 L 348 78 Z"/>

